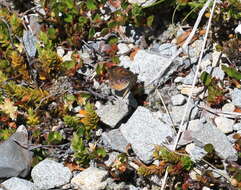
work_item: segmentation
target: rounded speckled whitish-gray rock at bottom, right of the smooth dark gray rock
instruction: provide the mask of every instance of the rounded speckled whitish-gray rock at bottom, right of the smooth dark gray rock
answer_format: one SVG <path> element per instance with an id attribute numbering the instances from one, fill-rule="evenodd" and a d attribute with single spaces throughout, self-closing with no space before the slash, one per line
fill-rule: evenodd
<path id="1" fill-rule="evenodd" d="M 34 186 L 38 190 L 44 190 L 65 185 L 70 181 L 72 174 L 63 164 L 45 159 L 32 169 L 31 176 Z"/>

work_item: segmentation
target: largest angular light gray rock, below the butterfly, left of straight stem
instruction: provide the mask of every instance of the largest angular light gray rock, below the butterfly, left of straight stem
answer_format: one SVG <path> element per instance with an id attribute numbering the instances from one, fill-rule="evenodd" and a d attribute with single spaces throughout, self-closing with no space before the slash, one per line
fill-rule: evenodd
<path id="1" fill-rule="evenodd" d="M 161 122 L 151 111 L 141 106 L 126 124 L 121 125 L 120 131 L 131 144 L 133 151 L 145 163 L 152 161 L 155 145 L 160 145 L 167 136 L 173 136 L 169 125 Z"/>

